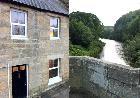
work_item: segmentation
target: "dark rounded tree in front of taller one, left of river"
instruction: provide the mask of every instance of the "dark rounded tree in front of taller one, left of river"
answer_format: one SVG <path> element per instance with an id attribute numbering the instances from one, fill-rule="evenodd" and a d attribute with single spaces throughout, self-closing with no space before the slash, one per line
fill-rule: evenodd
<path id="1" fill-rule="evenodd" d="M 81 21 L 70 22 L 70 40 L 75 45 L 88 47 L 92 41 L 92 33 Z"/>

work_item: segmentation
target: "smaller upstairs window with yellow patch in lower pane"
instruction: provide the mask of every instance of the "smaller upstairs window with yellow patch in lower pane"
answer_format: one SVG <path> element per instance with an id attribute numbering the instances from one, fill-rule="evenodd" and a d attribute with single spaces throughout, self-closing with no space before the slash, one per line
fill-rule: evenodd
<path id="1" fill-rule="evenodd" d="M 51 40 L 59 39 L 59 18 L 56 17 L 50 18 L 50 39 Z"/>

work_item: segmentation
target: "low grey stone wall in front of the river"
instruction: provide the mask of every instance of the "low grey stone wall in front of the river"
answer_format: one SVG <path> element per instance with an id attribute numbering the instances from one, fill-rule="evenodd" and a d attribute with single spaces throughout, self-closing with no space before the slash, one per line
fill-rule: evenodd
<path id="1" fill-rule="evenodd" d="M 70 57 L 70 85 L 99 98 L 140 98 L 140 69 L 92 57 Z"/>

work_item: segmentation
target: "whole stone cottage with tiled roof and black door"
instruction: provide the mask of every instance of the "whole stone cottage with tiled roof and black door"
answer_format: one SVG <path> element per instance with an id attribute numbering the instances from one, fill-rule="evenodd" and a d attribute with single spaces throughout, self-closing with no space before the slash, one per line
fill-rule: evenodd
<path id="1" fill-rule="evenodd" d="M 0 0 L 0 98 L 68 98 L 68 56 L 61 1 Z"/>

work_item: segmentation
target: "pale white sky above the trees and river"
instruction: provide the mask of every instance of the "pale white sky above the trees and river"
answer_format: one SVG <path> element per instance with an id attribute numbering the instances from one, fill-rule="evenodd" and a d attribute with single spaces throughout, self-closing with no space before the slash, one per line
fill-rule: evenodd
<path id="1" fill-rule="evenodd" d="M 122 15 L 140 9 L 140 0 L 69 0 L 69 3 L 70 13 L 93 13 L 105 26 L 113 26 Z"/>

